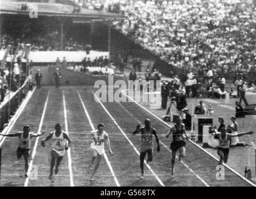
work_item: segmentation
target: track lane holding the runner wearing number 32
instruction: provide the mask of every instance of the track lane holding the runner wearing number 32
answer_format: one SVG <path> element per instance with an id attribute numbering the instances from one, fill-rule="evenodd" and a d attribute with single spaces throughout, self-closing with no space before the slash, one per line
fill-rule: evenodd
<path id="1" fill-rule="evenodd" d="M 140 161 L 135 150 L 130 146 L 125 137 L 121 134 L 115 123 L 109 118 L 108 114 L 102 109 L 102 106 L 95 102 L 91 90 L 79 90 L 83 103 L 87 107 L 88 114 L 92 118 L 93 125 L 99 123 L 105 124 L 105 131 L 110 134 L 111 148 L 113 157 L 109 157 L 110 163 L 118 176 L 121 186 L 160 186 L 156 178 L 149 175 L 145 180 L 140 180 Z M 120 137 L 114 139 L 111 134 L 120 134 Z M 121 140 L 121 141 L 120 141 Z M 149 173 L 147 173 L 149 174 Z M 150 173 L 151 174 L 151 173 Z"/>

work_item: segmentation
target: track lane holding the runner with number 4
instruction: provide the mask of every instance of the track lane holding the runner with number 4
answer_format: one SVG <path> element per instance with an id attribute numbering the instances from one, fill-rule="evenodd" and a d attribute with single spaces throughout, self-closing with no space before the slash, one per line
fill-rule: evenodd
<path id="1" fill-rule="evenodd" d="M 55 124 L 62 124 L 62 129 L 65 129 L 65 118 L 64 118 L 64 106 L 62 98 L 62 88 L 54 88 L 52 86 L 47 87 L 50 91 L 49 102 L 47 105 L 44 124 L 42 129 L 45 129 L 46 133 L 44 136 L 39 138 L 39 143 L 49 135 L 50 132 L 54 131 Z M 29 185 L 31 187 L 69 187 L 70 186 L 70 174 L 67 152 L 65 152 L 64 158 L 60 163 L 59 174 L 55 176 L 55 182 L 52 183 L 49 180 L 50 174 L 50 150 L 52 149 L 52 142 L 49 140 L 45 142 L 45 148 L 40 146 L 37 147 L 36 156 L 34 158 L 34 165 L 38 166 L 38 180 L 30 180 Z"/>

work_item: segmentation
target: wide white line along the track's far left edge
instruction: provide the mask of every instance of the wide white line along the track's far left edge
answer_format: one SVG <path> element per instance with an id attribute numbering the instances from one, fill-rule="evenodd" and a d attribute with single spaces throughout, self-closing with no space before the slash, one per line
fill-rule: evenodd
<path id="1" fill-rule="evenodd" d="M 29 102 L 29 99 L 31 99 L 32 95 L 34 94 L 35 90 L 36 90 L 36 87 L 31 92 L 29 92 L 29 94 L 27 95 L 26 99 L 24 99 L 24 101 L 22 102 L 22 104 L 19 107 L 19 109 L 17 109 L 16 113 L 14 114 L 14 116 L 9 121 L 8 126 L 5 127 L 4 130 L 1 132 L 2 134 L 5 134 L 5 135 L 9 134 L 9 132 L 12 129 L 12 127 L 16 123 L 17 119 L 19 119 L 19 116 L 21 115 L 22 111 L 24 110 L 24 108 L 26 107 L 27 103 Z M 0 147 L 2 147 L 2 144 L 4 143 L 5 139 L 6 139 L 6 136 L 2 137 L 2 139 L 0 141 Z"/>

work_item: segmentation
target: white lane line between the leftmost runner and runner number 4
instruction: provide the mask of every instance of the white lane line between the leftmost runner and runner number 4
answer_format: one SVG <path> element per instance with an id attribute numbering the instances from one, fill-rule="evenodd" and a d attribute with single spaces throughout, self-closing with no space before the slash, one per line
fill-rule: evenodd
<path id="1" fill-rule="evenodd" d="M 41 119 L 40 119 L 37 134 L 39 134 L 41 132 L 41 129 L 42 129 L 42 124 L 44 122 L 44 116 L 45 116 L 45 111 L 46 111 L 46 107 L 47 107 L 47 104 L 48 104 L 49 95 L 50 95 L 50 91 L 48 91 L 47 98 L 46 98 L 45 103 L 44 103 L 44 111 L 43 111 Z M 34 161 L 34 158 L 36 156 L 38 141 L 39 141 L 39 137 L 36 138 L 36 142 L 34 144 L 34 148 L 33 148 L 33 152 L 32 152 L 31 162 L 29 162 L 29 170 L 27 171 L 27 175 L 29 177 L 30 177 L 33 161 Z M 26 178 L 25 183 L 24 183 L 24 187 L 27 187 L 27 185 L 29 184 L 29 177 Z"/>

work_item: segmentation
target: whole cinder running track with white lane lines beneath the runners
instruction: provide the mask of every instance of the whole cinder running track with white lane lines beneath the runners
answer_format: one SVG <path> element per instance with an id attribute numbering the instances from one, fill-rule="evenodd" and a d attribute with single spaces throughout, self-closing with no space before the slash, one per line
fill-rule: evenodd
<path id="1" fill-rule="evenodd" d="M 31 165 L 37 168 L 37 179 L 24 178 L 24 160 L 16 159 L 17 137 L 7 137 L 2 144 L 1 186 L 252 186 L 227 168 L 225 180 L 216 180 L 217 160 L 191 142 L 187 142 L 183 162 L 176 160 L 176 175 L 172 179 L 171 139 L 164 137 L 169 127 L 135 103 L 98 103 L 93 90 L 92 86 L 49 86 L 34 92 L 10 133 L 21 131 L 24 125 L 37 132 L 42 121 L 41 127 L 46 134 L 31 142 Z M 138 152 L 141 138 L 131 132 L 138 122 L 143 123 L 146 118 L 151 119 L 159 134 L 161 151 L 154 150 L 153 163 L 148 167 L 145 165 L 145 179 L 140 180 Z M 72 147 L 62 160 L 55 182 L 51 183 L 48 179 L 51 143 L 45 142 L 44 148 L 40 141 L 54 131 L 56 123 L 61 123 L 69 133 Z M 91 183 L 88 168 L 92 142 L 90 131 L 99 123 L 106 126 L 113 156 L 106 150 L 95 182 Z"/>

